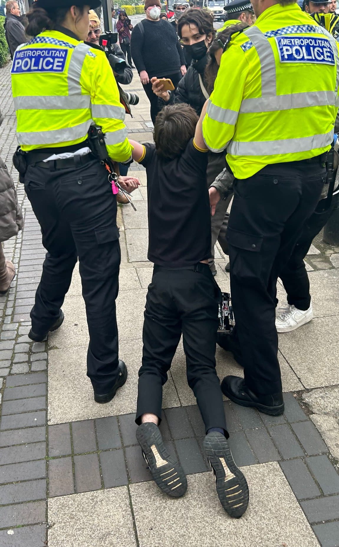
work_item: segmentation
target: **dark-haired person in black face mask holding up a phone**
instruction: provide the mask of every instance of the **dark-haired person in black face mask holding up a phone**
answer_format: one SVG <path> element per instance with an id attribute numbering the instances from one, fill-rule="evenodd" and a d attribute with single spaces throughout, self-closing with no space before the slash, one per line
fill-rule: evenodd
<path id="1" fill-rule="evenodd" d="M 159 97 L 159 102 L 162 106 L 171 103 L 187 103 L 200 115 L 202 107 L 209 97 L 209 92 L 213 88 L 213 82 L 211 84 L 211 71 L 207 71 L 206 69 L 209 60 L 208 49 L 215 36 L 211 14 L 203 9 L 188 9 L 178 21 L 178 35 L 184 48 L 185 59 L 190 65 L 188 71 L 180 80 L 175 91 L 171 93 L 163 91 L 163 86 L 157 78 L 151 78 L 152 89 L 155 95 Z M 224 167 L 225 154 L 223 152 L 221 154 L 209 152 L 207 166 L 208 186 L 211 186 Z M 214 245 L 217 240 L 223 252 L 228 254 L 228 245 L 225 237 L 228 205 L 229 201 L 220 200 L 215 214 L 211 219 L 211 258 L 208 263 L 213 275 L 217 274 L 217 268 L 214 264 Z"/>

